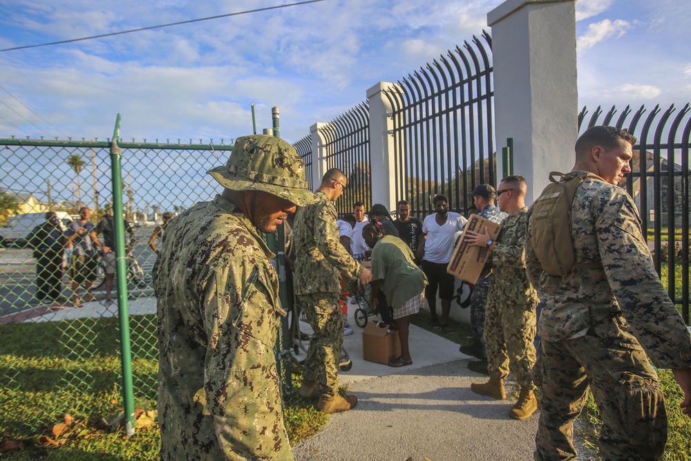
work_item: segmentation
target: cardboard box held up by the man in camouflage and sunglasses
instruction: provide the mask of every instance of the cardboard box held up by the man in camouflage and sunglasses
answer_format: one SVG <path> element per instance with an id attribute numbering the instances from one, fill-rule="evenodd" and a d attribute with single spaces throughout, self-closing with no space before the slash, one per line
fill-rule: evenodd
<path id="1" fill-rule="evenodd" d="M 468 283 L 477 282 L 477 278 L 480 277 L 480 272 L 482 272 L 484 263 L 487 261 L 489 248 L 468 245 L 464 237 L 466 236 L 466 230 L 484 234 L 485 227 L 487 227 L 489 236 L 492 239 L 497 238 L 502 228 L 497 223 L 493 223 L 485 218 L 480 218 L 477 214 L 473 214 L 473 216 L 468 219 L 468 222 L 463 228 L 463 234 L 453 250 L 451 261 L 449 261 L 446 266 L 446 272 Z"/>

